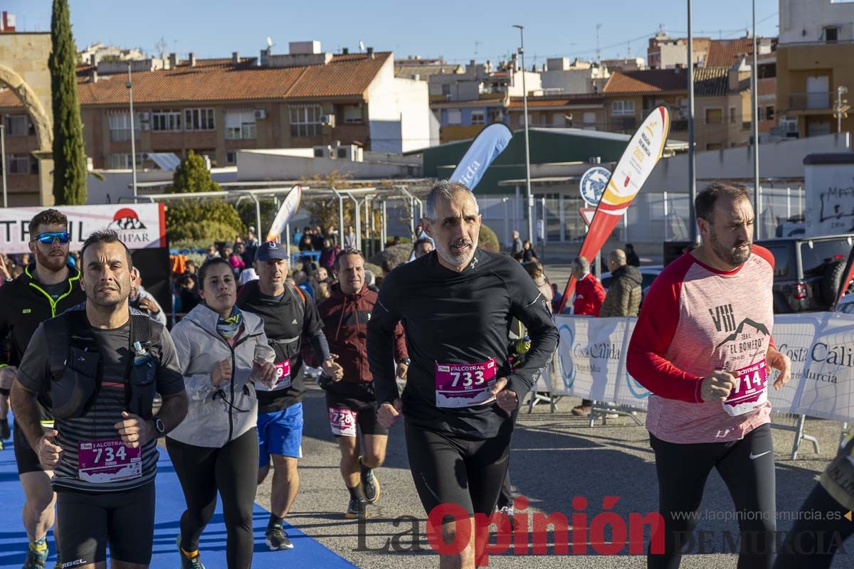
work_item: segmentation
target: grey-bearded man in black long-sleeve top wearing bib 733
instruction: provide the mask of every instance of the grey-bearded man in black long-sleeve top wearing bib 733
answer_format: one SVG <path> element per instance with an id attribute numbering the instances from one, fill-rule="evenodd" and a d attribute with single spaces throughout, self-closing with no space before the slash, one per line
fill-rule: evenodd
<path id="1" fill-rule="evenodd" d="M 377 419 L 390 428 L 406 416 L 407 454 L 429 514 L 443 502 L 471 516 L 471 540 L 442 567 L 474 567 L 474 514 L 490 515 L 507 469 L 512 411 L 558 345 L 540 291 L 512 258 L 477 248 L 481 216 L 459 183 L 439 182 L 427 198 L 426 229 L 436 251 L 393 270 L 368 323 L 368 361 Z M 529 330 L 524 365 L 509 370 L 512 317 Z M 394 332 L 406 329 L 412 358 L 403 396 L 395 383 Z M 454 524 L 442 535 L 453 542 Z"/>

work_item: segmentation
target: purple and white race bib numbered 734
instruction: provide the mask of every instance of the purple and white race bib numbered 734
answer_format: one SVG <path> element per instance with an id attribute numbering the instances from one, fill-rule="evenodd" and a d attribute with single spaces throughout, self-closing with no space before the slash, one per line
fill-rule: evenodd
<path id="1" fill-rule="evenodd" d="M 132 449 L 120 438 L 77 444 L 78 478 L 106 484 L 143 475 L 143 450 Z"/>

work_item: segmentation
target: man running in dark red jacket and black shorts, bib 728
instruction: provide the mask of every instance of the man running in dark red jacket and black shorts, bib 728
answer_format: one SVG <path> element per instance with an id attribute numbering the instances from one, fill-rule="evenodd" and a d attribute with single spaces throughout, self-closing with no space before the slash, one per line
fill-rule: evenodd
<path id="1" fill-rule="evenodd" d="M 377 422 L 377 398 L 368 369 L 367 323 L 377 302 L 377 293 L 366 287 L 365 258 L 358 250 L 347 249 L 335 259 L 338 282 L 329 299 L 318 305 L 332 353 L 344 369 L 342 380 L 321 378 L 326 390 L 326 407 L 332 434 L 341 449 L 341 475 L 350 493 L 347 518 L 367 517 L 367 504 L 377 502 L 380 485 L 373 469 L 385 460 L 389 431 Z M 406 377 L 409 366 L 403 328 L 395 330 L 397 376 Z M 358 430 L 364 449 L 360 456 Z"/>

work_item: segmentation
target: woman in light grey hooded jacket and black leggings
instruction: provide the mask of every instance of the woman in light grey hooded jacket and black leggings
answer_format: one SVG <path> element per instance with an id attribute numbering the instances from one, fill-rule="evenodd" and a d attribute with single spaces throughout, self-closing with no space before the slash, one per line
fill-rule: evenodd
<path id="1" fill-rule="evenodd" d="M 190 399 L 186 418 L 169 433 L 166 444 L 187 502 L 178 535 L 181 566 L 204 569 L 199 538 L 219 491 L 228 567 L 249 569 L 258 474 L 254 383 L 275 382 L 275 353 L 267 345 L 260 317 L 234 305 L 237 283 L 224 258 L 202 264 L 199 293 L 202 304 L 172 331 Z"/>

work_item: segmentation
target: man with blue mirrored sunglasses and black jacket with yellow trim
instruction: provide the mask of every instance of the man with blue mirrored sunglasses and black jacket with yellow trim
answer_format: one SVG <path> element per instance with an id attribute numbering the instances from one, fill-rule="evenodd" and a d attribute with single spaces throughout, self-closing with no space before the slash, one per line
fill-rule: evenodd
<path id="1" fill-rule="evenodd" d="M 39 212 L 30 220 L 29 230 L 30 251 L 36 262 L 27 266 L 14 281 L 0 287 L 0 306 L 3 306 L 0 311 L 0 398 L 4 399 L 3 403 L 9 398 L 17 366 L 38 325 L 86 298 L 79 286 L 79 270 L 68 266 L 68 219 L 65 215 L 55 209 Z M 5 358 L 7 354 L 8 359 Z M 44 409 L 50 404 L 47 393 L 39 393 L 38 402 L 42 405 L 42 427 L 50 429 L 53 418 Z M 6 423 L 5 417 L 0 420 L 0 428 L 2 423 Z M 26 496 L 24 528 L 30 543 L 24 569 L 38 569 L 44 567 L 47 560 L 47 533 L 54 525 L 56 496 L 50 488 L 53 472 L 41 466 L 17 421 L 14 440 L 18 477 Z"/>

